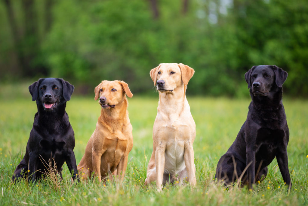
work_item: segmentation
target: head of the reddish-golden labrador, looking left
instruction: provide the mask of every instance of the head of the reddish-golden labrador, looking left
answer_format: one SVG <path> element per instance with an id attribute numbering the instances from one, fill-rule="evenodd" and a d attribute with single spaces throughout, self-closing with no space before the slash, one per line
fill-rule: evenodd
<path id="1" fill-rule="evenodd" d="M 119 80 L 104 80 L 95 87 L 94 92 L 95 101 L 99 99 L 99 104 L 103 109 L 115 108 L 126 99 L 125 94 L 128 97 L 133 96 L 128 84 Z"/>

